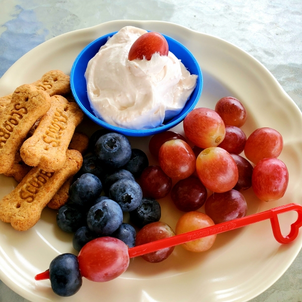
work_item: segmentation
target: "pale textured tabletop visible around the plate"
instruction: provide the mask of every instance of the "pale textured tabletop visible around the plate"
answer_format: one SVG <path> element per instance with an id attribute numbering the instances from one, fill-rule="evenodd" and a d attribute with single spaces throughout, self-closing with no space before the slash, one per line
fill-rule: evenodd
<path id="1" fill-rule="evenodd" d="M 300 0 L 0 0 L 0 77 L 23 54 L 68 31 L 106 21 L 159 20 L 230 41 L 263 63 L 302 108 Z M 302 300 L 302 253 L 253 302 Z M 0 301 L 27 301 L 0 280 Z"/>

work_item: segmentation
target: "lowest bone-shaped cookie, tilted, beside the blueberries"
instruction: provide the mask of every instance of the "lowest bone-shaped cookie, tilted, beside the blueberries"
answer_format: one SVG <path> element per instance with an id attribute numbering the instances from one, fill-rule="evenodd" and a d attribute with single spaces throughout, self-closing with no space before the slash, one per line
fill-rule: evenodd
<path id="1" fill-rule="evenodd" d="M 57 172 L 33 168 L 15 188 L 0 201 L 0 219 L 10 222 L 14 229 L 26 231 L 34 226 L 41 211 L 62 184 L 77 173 L 83 157 L 77 150 L 67 150 L 66 162 Z"/>

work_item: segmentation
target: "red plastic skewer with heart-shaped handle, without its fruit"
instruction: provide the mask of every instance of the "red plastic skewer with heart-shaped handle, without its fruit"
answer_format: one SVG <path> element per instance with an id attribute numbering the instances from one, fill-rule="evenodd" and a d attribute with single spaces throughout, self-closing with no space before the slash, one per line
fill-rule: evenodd
<path id="1" fill-rule="evenodd" d="M 283 236 L 280 230 L 278 214 L 289 212 L 289 211 L 296 211 L 298 217 L 297 220 L 291 224 L 289 234 L 287 236 Z M 260 212 L 246 217 L 208 226 L 207 228 L 146 243 L 140 246 L 130 248 L 128 250 L 129 257 L 133 258 L 136 256 L 141 256 L 147 253 L 155 252 L 165 248 L 170 248 L 172 246 L 183 244 L 199 238 L 207 237 L 213 234 L 219 234 L 219 233 L 235 230 L 241 228 L 242 226 L 246 226 L 266 219 L 270 219 L 271 221 L 273 235 L 277 240 L 277 242 L 281 244 L 292 242 L 298 236 L 299 228 L 300 226 L 302 226 L 302 206 L 296 203 L 289 203 L 286 205 L 281 205 L 272 208 L 264 212 Z M 49 270 L 37 274 L 35 279 L 36 280 L 49 279 Z"/>

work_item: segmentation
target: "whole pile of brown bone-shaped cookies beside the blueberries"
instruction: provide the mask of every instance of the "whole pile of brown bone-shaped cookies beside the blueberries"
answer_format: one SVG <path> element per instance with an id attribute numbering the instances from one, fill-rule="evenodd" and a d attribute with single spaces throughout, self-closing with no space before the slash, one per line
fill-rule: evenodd
<path id="1" fill-rule="evenodd" d="M 82 166 L 89 139 L 74 132 L 84 114 L 68 94 L 69 76 L 51 70 L 0 98 L 0 174 L 19 182 L 0 201 L 0 219 L 18 231 L 35 225 L 46 205 L 67 202 Z"/>

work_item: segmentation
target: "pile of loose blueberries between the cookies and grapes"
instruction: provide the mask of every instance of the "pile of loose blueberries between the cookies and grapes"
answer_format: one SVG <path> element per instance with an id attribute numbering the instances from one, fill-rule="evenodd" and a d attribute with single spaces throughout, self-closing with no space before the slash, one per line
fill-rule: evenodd
<path id="1" fill-rule="evenodd" d="M 73 248 L 80 251 L 89 241 L 112 236 L 129 248 L 135 246 L 135 228 L 123 223 L 129 212 L 137 228 L 159 221 L 161 207 L 157 200 L 143 198 L 135 181 L 148 167 L 147 156 L 131 149 L 122 134 L 97 130 L 90 138 L 89 151 L 81 170 L 69 189 L 69 201 L 57 214 L 57 224 L 65 232 L 75 232 Z M 105 196 L 101 196 L 104 191 Z"/>

